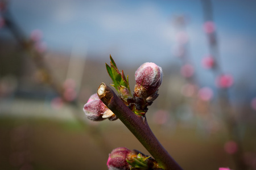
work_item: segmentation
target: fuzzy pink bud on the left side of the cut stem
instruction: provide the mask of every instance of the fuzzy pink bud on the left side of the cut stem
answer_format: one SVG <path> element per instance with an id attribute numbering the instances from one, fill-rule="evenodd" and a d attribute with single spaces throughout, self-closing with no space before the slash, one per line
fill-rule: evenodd
<path id="1" fill-rule="evenodd" d="M 97 94 L 90 96 L 84 105 L 85 116 L 92 121 L 102 121 L 109 118 L 110 121 L 117 120 L 117 116 L 98 98 Z"/>

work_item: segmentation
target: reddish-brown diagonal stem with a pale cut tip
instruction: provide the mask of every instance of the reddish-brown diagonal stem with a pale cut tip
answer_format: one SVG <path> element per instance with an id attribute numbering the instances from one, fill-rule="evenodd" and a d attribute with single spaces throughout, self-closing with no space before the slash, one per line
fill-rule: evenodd
<path id="1" fill-rule="evenodd" d="M 137 116 L 122 102 L 114 91 L 101 83 L 97 91 L 102 102 L 125 124 L 125 126 L 142 143 L 163 169 L 181 170 L 179 164 L 161 145 L 147 124 L 146 118 Z"/>

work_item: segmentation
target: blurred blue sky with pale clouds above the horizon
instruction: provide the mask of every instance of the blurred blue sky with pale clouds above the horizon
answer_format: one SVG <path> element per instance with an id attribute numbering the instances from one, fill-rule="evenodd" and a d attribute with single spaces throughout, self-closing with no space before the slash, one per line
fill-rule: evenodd
<path id="1" fill-rule="evenodd" d="M 112 54 L 117 63 L 136 66 L 179 63 L 173 55 L 176 42 L 171 19 L 185 14 L 190 20 L 189 55 L 199 79 L 207 84 L 210 73 L 201 68 L 201 59 L 209 53 L 201 1 L 19 0 L 11 1 L 10 7 L 27 35 L 42 30 L 48 50 L 70 53 L 80 43 L 102 62 Z M 236 80 L 250 75 L 250 91 L 256 87 L 255 8 L 256 1 L 213 1 L 221 66 Z"/>

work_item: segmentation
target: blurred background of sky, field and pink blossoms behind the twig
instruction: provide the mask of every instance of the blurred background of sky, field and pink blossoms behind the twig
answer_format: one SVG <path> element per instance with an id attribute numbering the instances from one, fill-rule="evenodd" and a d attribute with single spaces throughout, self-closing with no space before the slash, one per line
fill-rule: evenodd
<path id="1" fill-rule="evenodd" d="M 121 121 L 83 105 L 111 54 L 129 75 L 163 69 L 147 113 L 184 169 L 256 169 L 256 1 L 0 1 L 0 169 L 108 169 L 148 155 Z"/>

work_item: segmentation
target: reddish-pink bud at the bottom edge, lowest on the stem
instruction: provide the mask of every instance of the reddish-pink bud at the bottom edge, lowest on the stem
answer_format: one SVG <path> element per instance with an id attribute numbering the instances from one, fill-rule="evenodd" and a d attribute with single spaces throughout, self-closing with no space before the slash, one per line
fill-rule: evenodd
<path id="1" fill-rule="evenodd" d="M 128 170 L 130 169 L 129 163 L 126 161 L 127 157 L 132 151 L 125 147 L 115 148 L 110 154 L 107 162 L 109 170 Z"/>

